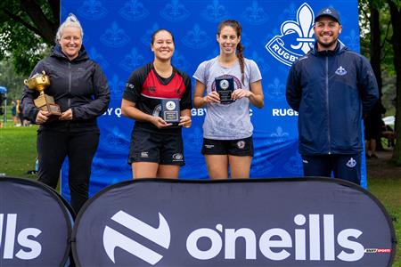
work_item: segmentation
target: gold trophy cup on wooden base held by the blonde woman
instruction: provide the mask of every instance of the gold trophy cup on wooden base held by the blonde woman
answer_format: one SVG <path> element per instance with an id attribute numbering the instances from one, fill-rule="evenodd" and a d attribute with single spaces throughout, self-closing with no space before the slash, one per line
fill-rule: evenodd
<path id="1" fill-rule="evenodd" d="M 46 75 L 45 70 L 42 71 L 42 74 L 37 73 L 28 80 L 24 80 L 24 84 L 31 90 L 39 91 L 39 97 L 34 100 L 37 109 L 50 112 L 49 116 L 61 116 L 60 106 L 54 103 L 53 96 L 44 93 L 45 88 L 50 85 L 50 79 Z"/>

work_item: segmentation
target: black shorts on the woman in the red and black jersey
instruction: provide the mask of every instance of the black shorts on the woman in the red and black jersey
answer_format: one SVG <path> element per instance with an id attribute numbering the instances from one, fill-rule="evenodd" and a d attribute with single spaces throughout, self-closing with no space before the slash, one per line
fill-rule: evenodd
<path id="1" fill-rule="evenodd" d="M 131 136 L 128 164 L 156 162 L 184 166 L 184 144 L 180 132 L 157 133 L 135 127 Z"/>

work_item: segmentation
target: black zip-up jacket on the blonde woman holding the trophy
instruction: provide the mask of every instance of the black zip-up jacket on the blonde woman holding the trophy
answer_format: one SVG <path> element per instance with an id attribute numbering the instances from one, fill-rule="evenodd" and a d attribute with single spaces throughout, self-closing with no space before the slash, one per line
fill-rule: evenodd
<path id="1" fill-rule="evenodd" d="M 97 129 L 96 117 L 101 116 L 108 108 L 110 89 L 102 69 L 88 58 L 84 46 L 78 57 L 70 61 L 57 44 L 49 57 L 37 63 L 30 77 L 42 73 L 42 70 L 50 77 L 50 86 L 45 89 L 45 94 L 53 96 L 61 112 L 72 110 L 71 121 L 53 120 L 42 127 Z M 21 102 L 24 117 L 31 122 L 35 122 L 39 111 L 33 102 L 38 95 L 37 91 L 25 86 Z"/>

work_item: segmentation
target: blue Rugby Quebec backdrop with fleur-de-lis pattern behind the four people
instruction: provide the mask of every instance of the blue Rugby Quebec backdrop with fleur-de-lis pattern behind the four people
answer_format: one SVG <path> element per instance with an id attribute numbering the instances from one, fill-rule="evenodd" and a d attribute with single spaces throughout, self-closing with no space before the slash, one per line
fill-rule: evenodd
<path id="1" fill-rule="evenodd" d="M 328 4 L 333 4 L 340 12 L 343 26 L 340 41 L 358 52 L 357 0 L 332 3 L 318 0 L 61 1 L 61 20 L 70 12 L 77 15 L 84 28 L 86 50 L 101 64 L 111 88 L 110 108 L 99 119 L 101 140 L 94 157 L 90 194 L 132 177 L 127 156 L 134 121 L 122 117 L 120 105 L 130 73 L 153 60 L 151 34 L 158 28 L 173 32 L 176 51 L 172 62 L 192 77 L 202 61 L 218 55 L 217 25 L 226 19 L 241 22 L 244 55 L 258 63 L 263 77 L 265 107 L 250 109 L 255 127 L 255 157 L 250 176 L 301 176 L 298 114 L 285 100 L 285 84 L 292 62 L 314 44 L 312 28 L 316 12 Z M 201 155 L 206 112 L 206 109 L 192 109 L 192 127 L 183 129 L 186 165 L 180 172 L 182 179 L 208 177 Z M 225 126 L 232 126 L 229 120 Z M 62 195 L 70 198 L 67 174 L 68 165 L 64 164 Z M 365 187 L 364 164 L 362 174 Z"/>

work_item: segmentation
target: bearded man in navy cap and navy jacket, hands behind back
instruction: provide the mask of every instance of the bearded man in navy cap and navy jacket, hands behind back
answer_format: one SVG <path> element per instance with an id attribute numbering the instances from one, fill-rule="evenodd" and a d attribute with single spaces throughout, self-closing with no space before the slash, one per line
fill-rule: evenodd
<path id="1" fill-rule="evenodd" d="M 299 153 L 306 176 L 331 176 L 360 184 L 362 118 L 379 98 L 372 67 L 338 40 L 339 13 L 315 17 L 315 47 L 294 62 L 286 97 L 299 111 Z"/>

